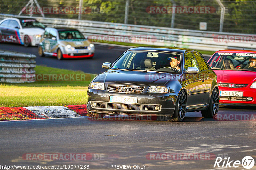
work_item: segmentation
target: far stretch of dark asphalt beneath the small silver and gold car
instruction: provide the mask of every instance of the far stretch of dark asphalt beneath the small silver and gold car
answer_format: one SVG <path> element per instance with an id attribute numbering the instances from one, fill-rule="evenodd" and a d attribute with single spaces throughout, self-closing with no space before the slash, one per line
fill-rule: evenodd
<path id="1" fill-rule="evenodd" d="M 84 58 L 64 60 L 57 60 L 57 57 L 53 56 L 40 57 L 38 55 L 37 46 L 24 47 L 14 43 L 0 43 L 0 49 L 35 54 L 35 61 L 37 65 L 69 70 L 81 70 L 85 73 L 100 74 L 101 72 L 106 71 L 106 69 L 102 68 L 102 64 L 104 62 L 113 63 L 129 48 L 95 44 L 95 54 L 92 59 Z M 206 57 L 206 59 L 208 60 L 209 57 Z"/>

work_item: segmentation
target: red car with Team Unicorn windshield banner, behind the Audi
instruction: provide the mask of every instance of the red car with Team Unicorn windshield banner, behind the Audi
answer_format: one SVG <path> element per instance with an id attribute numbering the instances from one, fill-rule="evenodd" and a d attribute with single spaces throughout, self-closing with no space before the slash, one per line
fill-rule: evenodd
<path id="1" fill-rule="evenodd" d="M 208 63 L 217 74 L 220 103 L 256 106 L 256 51 L 220 50 Z"/>

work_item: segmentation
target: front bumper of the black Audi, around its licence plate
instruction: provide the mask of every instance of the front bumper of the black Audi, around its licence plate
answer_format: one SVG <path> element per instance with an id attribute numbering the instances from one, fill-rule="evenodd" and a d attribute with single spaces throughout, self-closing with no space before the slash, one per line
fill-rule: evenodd
<path id="1" fill-rule="evenodd" d="M 145 90 L 146 89 L 146 90 Z M 147 93 L 147 87 L 140 94 L 115 93 L 107 90 L 88 89 L 87 111 L 108 114 L 156 114 L 172 117 L 178 93 L 153 94 Z M 138 103 L 113 103 L 109 97 L 133 96 L 138 97 Z M 96 107 L 92 103 L 97 103 Z M 158 106 L 160 109 L 155 110 Z"/>

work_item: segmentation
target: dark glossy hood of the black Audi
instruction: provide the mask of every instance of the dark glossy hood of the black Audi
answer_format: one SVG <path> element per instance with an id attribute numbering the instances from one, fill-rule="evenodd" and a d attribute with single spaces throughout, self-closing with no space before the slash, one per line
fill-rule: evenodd
<path id="1" fill-rule="evenodd" d="M 96 76 L 93 82 L 102 83 L 131 83 L 131 84 L 157 84 L 165 85 L 179 74 L 151 73 L 142 71 L 108 70 Z"/>

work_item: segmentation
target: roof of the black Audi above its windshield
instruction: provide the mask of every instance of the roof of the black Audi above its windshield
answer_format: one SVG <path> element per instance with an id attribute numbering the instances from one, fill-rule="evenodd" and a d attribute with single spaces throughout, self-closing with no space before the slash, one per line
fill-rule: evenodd
<path id="1" fill-rule="evenodd" d="M 165 47 L 165 46 L 140 46 L 140 47 L 133 47 L 130 48 L 130 50 L 156 50 L 156 51 L 168 51 L 168 52 L 176 52 L 176 53 L 183 53 L 183 52 L 187 52 L 187 51 L 194 51 L 197 52 L 195 50 L 191 50 L 191 49 L 187 49 L 187 48 L 177 48 L 177 47 Z"/>

